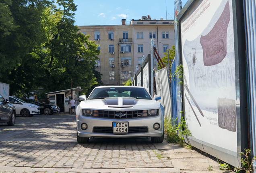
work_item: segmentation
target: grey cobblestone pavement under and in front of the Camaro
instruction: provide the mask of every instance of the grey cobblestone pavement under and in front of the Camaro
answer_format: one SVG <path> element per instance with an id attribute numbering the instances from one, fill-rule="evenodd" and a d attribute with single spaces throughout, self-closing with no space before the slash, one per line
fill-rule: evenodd
<path id="1" fill-rule="evenodd" d="M 150 139 L 90 139 L 81 145 L 75 115 L 18 116 L 12 127 L 0 123 L 0 164 L 6 167 L 173 168 Z"/>

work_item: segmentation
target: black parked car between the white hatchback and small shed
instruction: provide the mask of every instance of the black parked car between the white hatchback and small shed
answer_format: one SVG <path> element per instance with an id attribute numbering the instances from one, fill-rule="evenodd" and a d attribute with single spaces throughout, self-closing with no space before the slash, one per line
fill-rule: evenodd
<path id="1" fill-rule="evenodd" d="M 40 101 L 37 101 L 35 99 L 22 99 L 22 100 L 27 103 L 31 103 L 31 104 L 39 106 L 40 114 L 52 115 L 54 113 L 60 112 L 60 108 L 57 105 L 47 105 L 47 104 L 41 103 Z"/>

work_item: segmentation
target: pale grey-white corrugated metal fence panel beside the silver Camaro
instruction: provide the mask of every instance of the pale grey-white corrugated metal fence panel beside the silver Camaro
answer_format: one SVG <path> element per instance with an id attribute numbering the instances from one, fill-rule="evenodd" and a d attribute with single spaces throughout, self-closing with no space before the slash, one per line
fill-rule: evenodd
<path id="1" fill-rule="evenodd" d="M 171 91 L 170 82 L 167 76 L 167 68 L 155 72 L 157 95 L 161 96 L 159 102 L 165 108 L 165 117 L 171 118 Z"/>

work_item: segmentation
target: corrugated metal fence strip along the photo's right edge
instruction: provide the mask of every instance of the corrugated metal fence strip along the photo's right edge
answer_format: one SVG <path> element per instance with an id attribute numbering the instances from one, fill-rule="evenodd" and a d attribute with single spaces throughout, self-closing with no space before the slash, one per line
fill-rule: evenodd
<path id="1" fill-rule="evenodd" d="M 249 98 L 250 98 L 250 138 L 251 154 L 256 156 L 256 0 L 244 0 L 244 14 L 246 27 L 247 62 L 249 78 Z M 256 162 L 253 163 L 254 173 L 256 173 Z"/>

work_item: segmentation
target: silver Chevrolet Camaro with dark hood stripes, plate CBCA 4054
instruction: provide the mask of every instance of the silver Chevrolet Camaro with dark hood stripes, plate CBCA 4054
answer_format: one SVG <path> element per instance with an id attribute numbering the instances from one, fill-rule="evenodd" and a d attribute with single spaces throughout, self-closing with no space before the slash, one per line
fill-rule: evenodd
<path id="1" fill-rule="evenodd" d="M 151 137 L 153 143 L 163 142 L 164 109 L 157 101 L 161 97 L 152 98 L 144 87 L 96 87 L 88 99 L 79 99 L 78 143 L 88 143 L 90 137 Z"/>

